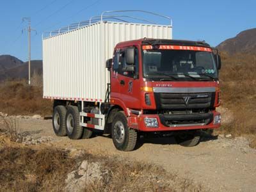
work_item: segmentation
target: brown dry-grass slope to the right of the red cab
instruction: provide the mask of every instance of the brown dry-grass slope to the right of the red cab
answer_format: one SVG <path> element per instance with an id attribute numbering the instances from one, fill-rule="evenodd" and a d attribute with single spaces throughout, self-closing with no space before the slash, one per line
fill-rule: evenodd
<path id="1" fill-rule="evenodd" d="M 256 56 L 222 54 L 220 72 L 222 106 L 234 113 L 234 122 L 221 127 L 222 132 L 241 136 L 256 134 Z"/>

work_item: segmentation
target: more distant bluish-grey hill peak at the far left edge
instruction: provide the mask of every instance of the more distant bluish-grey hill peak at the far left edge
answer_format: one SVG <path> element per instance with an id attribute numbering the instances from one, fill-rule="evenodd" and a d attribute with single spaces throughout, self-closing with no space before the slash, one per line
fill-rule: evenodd
<path id="1" fill-rule="evenodd" d="M 23 61 L 15 58 L 14 56 L 0 55 L 0 72 L 4 72 L 13 67 L 17 67 L 23 64 Z"/>

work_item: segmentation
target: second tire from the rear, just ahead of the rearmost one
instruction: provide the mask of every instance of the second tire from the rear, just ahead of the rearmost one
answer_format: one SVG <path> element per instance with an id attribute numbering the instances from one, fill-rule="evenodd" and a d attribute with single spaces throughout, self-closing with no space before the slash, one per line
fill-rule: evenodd
<path id="1" fill-rule="evenodd" d="M 83 127 L 79 125 L 79 110 L 76 106 L 67 107 L 66 131 L 71 140 L 81 139 Z"/>

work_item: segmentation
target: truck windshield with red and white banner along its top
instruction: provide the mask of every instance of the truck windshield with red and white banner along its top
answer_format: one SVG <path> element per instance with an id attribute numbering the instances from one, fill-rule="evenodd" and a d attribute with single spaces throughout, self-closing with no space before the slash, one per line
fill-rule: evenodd
<path id="1" fill-rule="evenodd" d="M 218 78 L 211 49 L 190 47 L 186 48 L 190 50 L 175 50 L 161 49 L 161 47 L 159 49 L 144 49 L 143 47 L 144 77 L 154 81 L 168 81 L 170 79 L 180 81 L 184 78 L 189 79 L 189 81 L 212 81 Z"/>

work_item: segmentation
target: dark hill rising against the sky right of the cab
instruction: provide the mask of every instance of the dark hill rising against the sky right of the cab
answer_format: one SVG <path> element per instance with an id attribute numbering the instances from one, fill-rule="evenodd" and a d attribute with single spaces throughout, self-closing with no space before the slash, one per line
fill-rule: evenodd
<path id="1" fill-rule="evenodd" d="M 228 52 L 228 54 L 256 53 L 256 28 L 242 31 L 234 38 L 228 38 L 217 48 L 220 51 Z"/>

